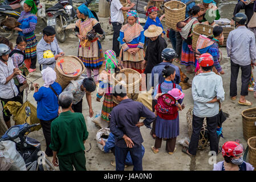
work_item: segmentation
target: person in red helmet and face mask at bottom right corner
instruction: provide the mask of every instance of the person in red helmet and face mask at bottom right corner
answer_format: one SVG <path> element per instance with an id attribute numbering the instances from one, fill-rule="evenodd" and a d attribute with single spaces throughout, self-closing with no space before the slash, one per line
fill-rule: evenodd
<path id="1" fill-rule="evenodd" d="M 214 164 L 213 171 L 253 171 L 251 164 L 243 161 L 243 146 L 237 142 L 229 141 L 222 146 L 224 161 Z"/>

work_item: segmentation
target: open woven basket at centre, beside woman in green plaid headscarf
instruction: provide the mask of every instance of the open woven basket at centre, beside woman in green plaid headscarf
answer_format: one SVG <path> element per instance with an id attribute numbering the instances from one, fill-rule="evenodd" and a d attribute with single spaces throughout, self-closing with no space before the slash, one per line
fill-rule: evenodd
<path id="1" fill-rule="evenodd" d="M 124 82 L 121 82 L 124 81 Z M 126 68 L 121 69 L 119 73 L 112 75 L 113 87 L 115 85 L 122 85 L 126 89 L 127 96 L 132 100 L 137 100 L 139 96 L 139 88 L 141 85 L 141 75 L 134 69 Z M 128 83 L 128 84 L 127 84 Z M 113 97 L 116 104 L 119 102 Z"/>

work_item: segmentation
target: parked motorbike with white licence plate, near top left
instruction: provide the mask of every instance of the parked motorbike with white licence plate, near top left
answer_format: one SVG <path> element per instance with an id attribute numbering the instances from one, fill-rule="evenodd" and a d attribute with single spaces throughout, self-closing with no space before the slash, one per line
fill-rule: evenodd
<path id="1" fill-rule="evenodd" d="M 85 0 L 84 4 L 88 7 L 93 0 Z M 99 18 L 95 11 L 92 11 L 97 21 Z M 75 22 L 78 20 L 76 16 L 76 10 L 72 6 L 72 0 L 67 1 L 67 3 L 58 2 L 56 5 L 46 9 L 46 20 L 47 26 L 52 26 L 56 31 L 56 39 L 63 43 L 66 39 L 66 30 L 74 29 Z M 104 35 L 99 39 L 100 41 L 104 39 Z"/>

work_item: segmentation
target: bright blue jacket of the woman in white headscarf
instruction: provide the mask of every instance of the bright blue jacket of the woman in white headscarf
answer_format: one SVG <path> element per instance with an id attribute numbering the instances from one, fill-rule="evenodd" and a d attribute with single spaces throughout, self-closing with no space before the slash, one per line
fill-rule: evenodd
<path id="1" fill-rule="evenodd" d="M 58 95 L 62 92 L 62 87 L 57 82 L 54 82 L 51 86 Z M 58 98 L 50 87 L 42 86 L 38 92 L 34 93 L 33 97 L 37 101 L 36 111 L 38 119 L 50 121 L 58 117 Z"/>

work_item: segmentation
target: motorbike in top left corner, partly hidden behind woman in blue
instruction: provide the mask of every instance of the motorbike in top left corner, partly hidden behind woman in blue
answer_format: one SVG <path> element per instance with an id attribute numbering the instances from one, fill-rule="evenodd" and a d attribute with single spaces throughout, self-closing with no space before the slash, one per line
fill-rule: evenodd
<path id="1" fill-rule="evenodd" d="M 6 16 L 18 19 L 23 11 L 23 4 L 25 0 L 5 0 L 0 4 L 0 22 L 6 18 Z M 39 4 L 39 0 L 34 0 L 35 5 L 38 9 L 42 8 Z M 5 26 L 0 27 L 0 36 L 11 40 L 14 36 L 14 30 L 9 30 Z"/>

